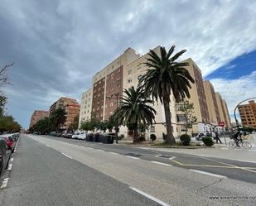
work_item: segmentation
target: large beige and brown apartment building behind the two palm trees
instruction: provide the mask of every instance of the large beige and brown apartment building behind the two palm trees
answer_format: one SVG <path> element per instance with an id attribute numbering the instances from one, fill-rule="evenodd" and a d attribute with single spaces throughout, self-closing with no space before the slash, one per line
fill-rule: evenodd
<path id="1" fill-rule="evenodd" d="M 160 55 L 160 46 L 157 46 L 153 50 Z M 101 69 L 94 75 L 93 87 L 90 90 L 93 93 L 92 102 L 90 103 L 91 117 L 99 120 L 107 120 L 114 113 L 114 110 L 117 108 L 117 95 L 120 98 L 123 96 L 123 89 L 129 89 L 132 86 L 136 88 L 139 79 L 147 72 L 148 68 L 143 63 L 147 61 L 148 57 L 148 53 L 138 55 L 135 50 L 128 48 L 117 59 L 113 60 L 104 69 Z M 197 118 L 197 123 L 191 129 L 191 132 L 210 131 L 211 127 L 216 127 L 218 122 L 220 122 L 220 113 L 222 115 L 221 117 L 229 117 L 227 109 L 225 110 L 226 115 L 224 115 L 224 112 L 219 111 L 218 108 L 218 103 L 223 104 L 223 107 L 226 107 L 226 105 L 223 101 L 218 102 L 216 100 L 215 90 L 212 84 L 208 80 L 203 81 L 200 68 L 196 63 L 191 58 L 184 61 L 189 63 L 186 69 L 188 69 L 193 79 L 195 79 L 195 84 L 191 84 L 191 98 L 187 99 L 194 104 L 195 116 Z M 178 136 L 181 132 L 185 131 L 184 121 L 182 122 L 182 114 L 177 109 L 179 105 L 175 103 L 172 95 L 170 98 L 172 131 L 174 136 Z M 81 101 L 82 108 L 85 106 L 85 102 L 89 102 L 89 96 L 85 97 L 83 94 Z M 149 132 L 155 133 L 157 137 L 162 137 L 162 133 L 166 132 L 164 108 L 159 102 L 154 103 L 153 107 L 157 111 L 157 116 L 155 119 L 156 122 L 150 127 Z M 81 115 L 83 115 L 82 113 L 81 110 Z M 80 117 L 80 121 L 83 117 Z M 120 131 L 128 132 L 127 129 L 120 129 Z"/>

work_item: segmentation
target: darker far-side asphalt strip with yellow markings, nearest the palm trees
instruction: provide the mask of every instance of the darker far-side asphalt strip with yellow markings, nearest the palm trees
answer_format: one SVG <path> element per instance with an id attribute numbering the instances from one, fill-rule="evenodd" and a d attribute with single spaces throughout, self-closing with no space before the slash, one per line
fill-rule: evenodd
<path id="1" fill-rule="evenodd" d="M 195 156 L 171 151 L 160 151 L 152 148 L 106 145 L 97 142 L 65 139 L 62 137 L 46 136 L 46 138 L 55 139 L 56 141 L 65 141 L 79 146 L 89 146 L 94 149 L 116 152 L 123 156 L 134 156 L 142 160 L 162 162 L 164 164 L 174 165 L 177 167 L 186 168 L 188 170 L 202 170 L 205 172 L 214 173 L 216 175 L 224 175 L 230 179 L 242 180 L 256 184 L 256 161 L 254 163 L 223 158 Z M 216 150 L 216 152 L 220 151 Z M 256 156 L 256 153 L 254 156 Z"/>

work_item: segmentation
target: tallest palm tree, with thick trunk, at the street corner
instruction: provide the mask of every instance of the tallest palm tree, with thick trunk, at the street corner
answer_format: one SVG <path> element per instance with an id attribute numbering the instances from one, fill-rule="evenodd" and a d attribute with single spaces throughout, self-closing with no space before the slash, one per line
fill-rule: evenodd
<path id="1" fill-rule="evenodd" d="M 175 139 L 171 131 L 171 113 L 170 113 L 170 95 L 171 92 L 176 100 L 176 103 L 181 102 L 184 98 L 190 98 L 189 89 L 191 83 L 194 84 L 194 79 L 185 68 L 188 65 L 186 62 L 176 62 L 176 60 L 186 52 L 181 50 L 172 55 L 175 46 L 171 46 L 168 51 L 165 47 L 160 47 L 160 56 L 153 50 L 149 52 L 149 58 L 144 65 L 147 65 L 147 73 L 140 79 L 140 85 L 143 85 L 147 97 L 160 99 L 164 106 L 166 125 L 167 125 L 167 144 L 175 144 Z"/>

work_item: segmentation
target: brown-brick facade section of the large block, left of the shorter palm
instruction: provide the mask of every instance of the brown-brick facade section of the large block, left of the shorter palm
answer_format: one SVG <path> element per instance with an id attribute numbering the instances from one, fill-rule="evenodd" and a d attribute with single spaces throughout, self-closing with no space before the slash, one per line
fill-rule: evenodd
<path id="1" fill-rule="evenodd" d="M 135 53 L 135 50 L 128 48 L 94 75 L 92 117 L 105 120 L 114 113 L 117 108 L 114 94 L 118 93 L 118 98 L 123 95 L 123 70 L 126 70 L 127 65 L 138 58 L 139 55 Z"/>

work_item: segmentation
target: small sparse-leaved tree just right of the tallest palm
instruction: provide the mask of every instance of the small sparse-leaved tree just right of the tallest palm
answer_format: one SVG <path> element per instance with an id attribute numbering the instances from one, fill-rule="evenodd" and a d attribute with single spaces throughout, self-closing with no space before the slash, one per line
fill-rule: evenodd
<path id="1" fill-rule="evenodd" d="M 183 101 L 183 103 L 181 103 L 181 105 L 179 107 L 179 111 L 181 111 L 181 113 L 184 114 L 184 117 L 185 117 L 184 125 L 186 128 L 186 134 L 187 134 L 187 129 L 192 128 L 193 124 L 195 124 L 197 121 L 196 116 L 193 116 L 194 104 L 185 100 L 185 101 Z"/>

